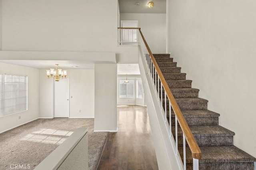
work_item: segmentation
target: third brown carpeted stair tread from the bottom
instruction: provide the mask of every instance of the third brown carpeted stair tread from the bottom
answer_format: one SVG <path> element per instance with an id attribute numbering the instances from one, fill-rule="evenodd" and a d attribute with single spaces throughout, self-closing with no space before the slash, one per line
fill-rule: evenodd
<path id="1" fill-rule="evenodd" d="M 182 110 L 181 113 L 184 117 L 219 117 L 219 113 L 215 113 L 210 110 Z M 172 117 L 175 117 L 174 113 L 171 114 Z"/>

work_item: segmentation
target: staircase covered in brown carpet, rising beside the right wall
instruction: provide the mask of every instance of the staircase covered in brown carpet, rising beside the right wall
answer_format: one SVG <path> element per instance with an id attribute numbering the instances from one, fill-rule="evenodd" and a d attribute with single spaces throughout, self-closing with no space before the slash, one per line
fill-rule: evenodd
<path id="1" fill-rule="evenodd" d="M 233 145 L 234 132 L 218 125 L 218 113 L 207 110 L 208 100 L 198 98 L 198 89 L 191 88 L 192 80 L 186 80 L 186 73 L 180 72 L 169 54 L 154 54 L 170 90 L 176 99 L 189 127 L 196 139 L 202 159 L 200 170 L 254 170 L 256 158 Z M 164 101 L 163 101 L 164 104 Z M 169 101 L 167 101 L 167 105 Z M 167 106 L 169 107 L 169 106 Z M 167 113 L 169 117 L 169 112 Z M 174 113 L 171 114 L 175 135 Z M 178 146 L 183 159 L 182 131 L 178 128 Z M 186 148 L 187 170 L 192 170 L 192 156 Z"/>

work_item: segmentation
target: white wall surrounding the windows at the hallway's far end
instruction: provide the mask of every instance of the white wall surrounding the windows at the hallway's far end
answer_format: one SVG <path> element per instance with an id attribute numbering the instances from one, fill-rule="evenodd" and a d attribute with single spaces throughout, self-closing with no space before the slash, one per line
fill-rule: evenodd
<path id="1" fill-rule="evenodd" d="M 121 78 L 122 77 L 122 78 Z M 140 77 L 140 75 L 128 75 L 127 77 Z M 137 86 L 136 86 L 136 81 L 137 80 L 141 80 L 141 78 L 127 78 L 129 81 L 133 80 L 134 86 L 133 86 L 133 98 L 120 98 L 119 94 L 120 94 L 120 85 L 119 85 L 119 81 L 120 80 L 126 80 L 126 76 L 125 75 L 118 75 L 118 79 L 117 79 L 117 104 L 118 105 L 141 105 L 141 106 L 145 106 L 145 99 L 144 99 L 144 93 L 142 98 L 137 98 L 136 97 L 136 90 L 137 90 Z"/>

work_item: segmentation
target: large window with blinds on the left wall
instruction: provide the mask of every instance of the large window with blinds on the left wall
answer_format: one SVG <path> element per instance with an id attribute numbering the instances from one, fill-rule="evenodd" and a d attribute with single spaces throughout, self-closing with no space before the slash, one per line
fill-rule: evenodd
<path id="1" fill-rule="evenodd" d="M 0 116 L 27 109 L 27 76 L 0 74 Z"/>

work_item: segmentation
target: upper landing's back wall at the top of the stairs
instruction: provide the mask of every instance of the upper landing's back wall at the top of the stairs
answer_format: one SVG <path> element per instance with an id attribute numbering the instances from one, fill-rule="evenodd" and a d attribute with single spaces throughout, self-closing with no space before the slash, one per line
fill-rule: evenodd
<path id="1" fill-rule="evenodd" d="M 166 53 L 166 14 L 120 13 L 120 20 L 138 21 L 152 53 Z"/>

